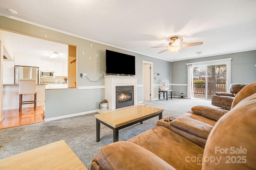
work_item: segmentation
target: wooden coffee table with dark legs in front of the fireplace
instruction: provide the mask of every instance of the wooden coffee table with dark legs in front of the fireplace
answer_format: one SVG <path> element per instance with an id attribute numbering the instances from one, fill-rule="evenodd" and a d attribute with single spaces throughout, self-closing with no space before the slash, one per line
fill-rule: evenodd
<path id="1" fill-rule="evenodd" d="M 100 123 L 113 129 L 113 142 L 118 141 L 118 131 L 136 123 L 142 124 L 144 120 L 159 116 L 162 119 L 163 109 L 148 106 L 134 106 L 125 109 L 110 111 L 95 115 L 96 141 L 100 141 Z"/>

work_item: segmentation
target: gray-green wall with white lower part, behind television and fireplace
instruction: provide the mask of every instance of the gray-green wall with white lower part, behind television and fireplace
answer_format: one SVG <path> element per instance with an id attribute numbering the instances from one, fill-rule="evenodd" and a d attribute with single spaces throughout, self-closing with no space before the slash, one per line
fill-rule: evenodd
<path id="1" fill-rule="evenodd" d="M 159 84 L 160 80 L 162 79 L 169 79 L 169 81 L 171 80 L 171 63 L 168 61 L 163 61 L 157 58 L 126 51 L 124 49 L 96 43 L 80 37 L 67 35 L 3 16 L 0 16 L 0 29 L 31 35 L 42 39 L 45 39 L 45 35 L 47 35 L 47 40 L 77 46 L 78 54 L 76 63 L 78 70 L 78 88 L 88 86 L 104 86 L 104 79 L 99 82 L 90 82 L 86 78 L 80 78 L 80 73 L 86 73 L 87 77 L 92 81 L 99 80 L 103 76 L 103 71 L 106 70 L 106 49 L 128 55 L 134 55 L 136 57 L 136 76 L 140 77 L 137 80 L 138 85 L 142 85 L 142 61 L 152 62 L 154 65 L 154 72 L 160 73 L 160 76 L 155 76 L 156 79 L 153 81 L 153 84 Z M 90 57 L 91 60 L 89 59 Z M 82 90 L 78 90 L 78 88 L 46 90 L 46 119 L 75 113 L 95 111 L 97 108 L 99 108 L 99 102 L 104 100 L 104 88 Z M 137 102 L 142 102 L 142 87 L 138 87 L 137 93 Z"/>

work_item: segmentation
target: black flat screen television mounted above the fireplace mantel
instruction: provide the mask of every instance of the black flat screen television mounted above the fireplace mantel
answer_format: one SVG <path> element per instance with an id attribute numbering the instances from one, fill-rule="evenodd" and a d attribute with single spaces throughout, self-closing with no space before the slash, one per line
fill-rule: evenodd
<path id="1" fill-rule="evenodd" d="M 135 76 L 135 56 L 106 50 L 106 73 Z"/>

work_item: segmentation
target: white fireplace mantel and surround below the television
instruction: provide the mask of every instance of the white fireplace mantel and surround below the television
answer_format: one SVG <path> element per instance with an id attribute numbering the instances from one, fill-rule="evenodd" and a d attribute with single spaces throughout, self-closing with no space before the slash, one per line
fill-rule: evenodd
<path id="1" fill-rule="evenodd" d="M 136 76 L 104 76 L 108 109 L 116 109 L 116 86 L 134 86 L 134 105 L 137 105 L 137 78 Z"/>

